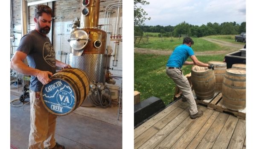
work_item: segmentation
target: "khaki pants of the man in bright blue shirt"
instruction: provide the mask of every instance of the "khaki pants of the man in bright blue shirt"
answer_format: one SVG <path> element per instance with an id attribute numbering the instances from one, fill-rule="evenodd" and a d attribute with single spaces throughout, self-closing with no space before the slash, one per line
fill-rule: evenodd
<path id="1" fill-rule="evenodd" d="M 178 88 L 181 90 L 182 95 L 189 103 L 190 115 L 195 115 L 198 112 L 198 109 L 196 107 L 192 89 L 189 85 L 189 80 L 183 75 L 180 69 L 168 69 L 168 67 L 166 67 L 166 74 L 176 83 Z"/>

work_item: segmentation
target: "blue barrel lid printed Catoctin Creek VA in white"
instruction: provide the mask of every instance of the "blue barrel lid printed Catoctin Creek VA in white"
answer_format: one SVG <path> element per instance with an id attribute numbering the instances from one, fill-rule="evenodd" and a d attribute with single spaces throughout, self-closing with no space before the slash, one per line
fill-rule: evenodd
<path id="1" fill-rule="evenodd" d="M 73 87 L 61 79 L 53 78 L 41 89 L 41 100 L 44 107 L 52 114 L 62 116 L 73 111 L 76 95 Z"/>

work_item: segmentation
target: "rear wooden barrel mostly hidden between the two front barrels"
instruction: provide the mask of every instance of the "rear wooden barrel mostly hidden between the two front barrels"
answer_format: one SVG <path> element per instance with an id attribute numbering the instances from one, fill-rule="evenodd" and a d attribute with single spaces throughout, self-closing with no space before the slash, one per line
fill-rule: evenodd
<path id="1" fill-rule="evenodd" d="M 213 64 L 214 66 L 214 74 L 216 80 L 215 92 L 222 91 L 222 82 L 227 70 L 227 63 L 221 61 L 209 61 L 208 63 Z"/>

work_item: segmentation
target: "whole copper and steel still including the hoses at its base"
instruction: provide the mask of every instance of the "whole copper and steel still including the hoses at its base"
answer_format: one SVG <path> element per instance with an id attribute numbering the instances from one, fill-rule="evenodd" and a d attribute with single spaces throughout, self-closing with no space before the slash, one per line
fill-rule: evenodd
<path id="1" fill-rule="evenodd" d="M 73 23 L 68 39 L 72 53 L 68 54 L 67 60 L 70 66 L 84 70 L 90 79 L 90 91 L 85 101 L 108 107 L 111 93 L 105 83 L 115 84 L 115 81 L 109 72 L 111 54 L 106 49 L 107 33 L 99 29 L 99 4 L 99 0 L 81 0 L 81 20 L 80 24 L 77 20 Z M 86 103 L 81 106 L 84 105 Z"/>

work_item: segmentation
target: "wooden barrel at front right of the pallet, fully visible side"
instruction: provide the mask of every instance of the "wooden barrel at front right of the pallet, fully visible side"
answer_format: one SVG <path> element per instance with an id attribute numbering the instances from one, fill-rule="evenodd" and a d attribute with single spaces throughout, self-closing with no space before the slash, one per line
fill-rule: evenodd
<path id="1" fill-rule="evenodd" d="M 246 70 L 227 69 L 222 85 L 223 105 L 238 111 L 245 108 Z"/>

